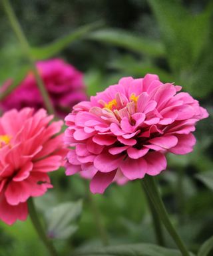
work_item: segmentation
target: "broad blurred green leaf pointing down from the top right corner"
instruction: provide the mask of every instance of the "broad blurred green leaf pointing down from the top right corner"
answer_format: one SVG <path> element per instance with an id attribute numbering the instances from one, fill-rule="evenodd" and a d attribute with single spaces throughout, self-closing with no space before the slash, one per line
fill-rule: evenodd
<path id="1" fill-rule="evenodd" d="M 148 0 L 158 20 L 174 73 L 192 69 L 202 54 L 210 33 L 212 4 L 192 15 L 178 0 Z"/>

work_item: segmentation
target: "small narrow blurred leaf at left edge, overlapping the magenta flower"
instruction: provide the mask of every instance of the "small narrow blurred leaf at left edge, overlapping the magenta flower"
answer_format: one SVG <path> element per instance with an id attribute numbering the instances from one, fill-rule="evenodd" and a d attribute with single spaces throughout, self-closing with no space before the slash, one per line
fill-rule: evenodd
<path id="1" fill-rule="evenodd" d="M 20 83 L 23 81 L 23 79 L 26 77 L 27 73 L 29 72 L 30 67 L 29 66 L 23 66 L 19 71 L 17 72 L 17 75 L 15 76 L 15 79 L 9 79 L 8 80 L 8 86 L 5 91 L 3 91 L 0 94 L 0 101 L 5 99 Z"/>

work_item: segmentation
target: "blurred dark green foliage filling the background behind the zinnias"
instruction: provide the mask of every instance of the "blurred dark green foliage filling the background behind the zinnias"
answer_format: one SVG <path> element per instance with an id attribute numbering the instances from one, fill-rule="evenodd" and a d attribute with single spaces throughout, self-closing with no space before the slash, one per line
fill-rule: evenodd
<path id="1" fill-rule="evenodd" d="M 200 122 L 196 131 L 198 143 L 194 152 L 185 156 L 168 155 L 168 170 L 159 177 L 174 225 L 191 251 L 197 252 L 212 235 L 213 227 L 213 2 L 13 0 L 11 3 L 35 59 L 62 57 L 75 65 L 85 73 L 89 95 L 123 76 L 156 73 L 164 82 L 182 85 L 184 91 L 208 109 L 210 117 Z M 12 77 L 16 86 L 28 71 L 27 61 L 0 8 L 0 84 Z M 85 189 L 88 185 L 78 176 L 66 178 L 63 169 L 53 173 L 52 179 L 55 189 L 36 202 L 44 221 L 45 216 L 53 221 L 46 221 L 46 225 L 47 229 L 53 228 L 50 232 L 55 232 L 51 235 L 57 247 L 63 255 L 69 255 L 75 247 L 101 245 Z M 155 243 L 138 181 L 122 187 L 111 185 L 105 195 L 92 197 L 101 211 L 110 244 Z M 83 206 L 79 199 L 83 199 Z M 59 215 L 59 204 L 65 202 L 76 203 L 62 205 L 66 211 Z M 60 218 L 68 219 L 59 227 Z M 174 247 L 168 235 L 166 245 Z M 0 255 L 12 254 L 46 255 L 30 221 L 13 227 L 0 223 Z"/>

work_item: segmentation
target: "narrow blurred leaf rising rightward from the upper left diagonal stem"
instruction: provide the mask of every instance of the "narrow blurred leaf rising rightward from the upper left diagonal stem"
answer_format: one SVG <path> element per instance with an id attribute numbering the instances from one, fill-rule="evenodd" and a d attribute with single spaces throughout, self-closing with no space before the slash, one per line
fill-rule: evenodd
<path id="1" fill-rule="evenodd" d="M 101 25 L 103 25 L 103 23 L 96 22 L 79 27 L 79 29 L 76 29 L 69 35 L 65 35 L 65 37 L 62 37 L 61 39 L 57 39 L 49 45 L 45 45 L 43 47 L 33 47 L 31 49 L 31 55 L 33 55 L 35 59 L 48 59 L 50 57 L 53 57 L 54 55 L 65 49 L 65 47 L 69 46 L 74 41 L 85 37 L 87 33 L 94 29 L 97 29 L 97 27 L 100 27 Z"/>

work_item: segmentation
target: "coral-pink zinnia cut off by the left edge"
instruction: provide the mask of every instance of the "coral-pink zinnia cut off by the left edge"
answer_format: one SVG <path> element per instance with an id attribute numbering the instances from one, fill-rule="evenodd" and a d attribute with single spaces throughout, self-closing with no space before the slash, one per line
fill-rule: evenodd
<path id="1" fill-rule="evenodd" d="M 15 109 L 0 117 L 0 219 L 11 225 L 27 218 L 27 199 L 52 188 L 47 173 L 63 165 L 67 149 L 63 121 L 44 109 Z"/>

